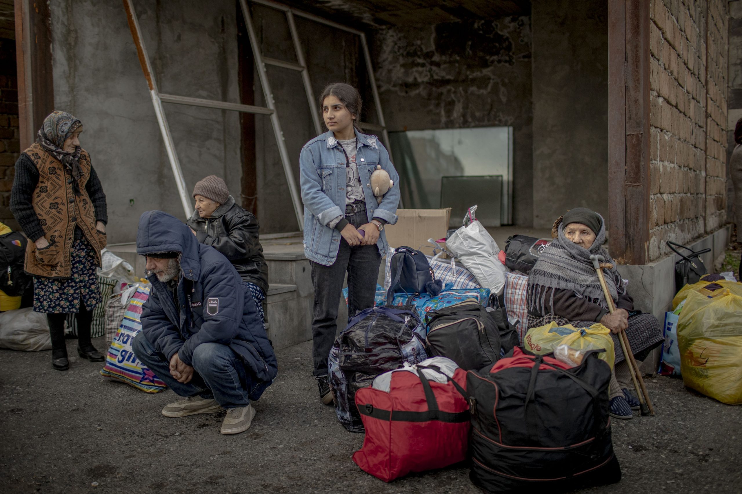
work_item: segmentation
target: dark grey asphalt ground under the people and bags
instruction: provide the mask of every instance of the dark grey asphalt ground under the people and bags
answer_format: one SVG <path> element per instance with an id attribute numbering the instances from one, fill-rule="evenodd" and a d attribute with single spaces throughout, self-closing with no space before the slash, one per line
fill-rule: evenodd
<path id="1" fill-rule="evenodd" d="M 229 436 L 219 433 L 224 413 L 163 417 L 174 393 L 105 380 L 75 344 L 66 372 L 52 370 L 49 351 L 0 350 L 0 493 L 480 492 L 466 465 L 390 484 L 360 470 L 351 455 L 364 436 L 319 401 L 309 343 L 278 352 L 252 427 Z M 613 424 L 622 481 L 582 492 L 742 493 L 742 407 L 680 379 L 647 387 L 657 416 Z"/>

